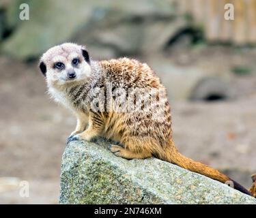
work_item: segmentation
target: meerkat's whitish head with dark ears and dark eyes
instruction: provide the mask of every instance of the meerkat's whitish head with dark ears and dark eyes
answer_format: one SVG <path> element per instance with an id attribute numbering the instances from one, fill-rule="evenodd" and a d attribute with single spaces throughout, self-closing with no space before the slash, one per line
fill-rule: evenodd
<path id="1" fill-rule="evenodd" d="M 40 59 L 40 70 L 51 86 L 86 80 L 91 74 L 85 46 L 64 43 L 47 50 Z"/>

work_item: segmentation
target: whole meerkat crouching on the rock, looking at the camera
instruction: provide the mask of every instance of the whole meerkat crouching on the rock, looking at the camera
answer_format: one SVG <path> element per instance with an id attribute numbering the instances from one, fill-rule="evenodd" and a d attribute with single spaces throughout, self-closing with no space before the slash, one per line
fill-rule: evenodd
<path id="1" fill-rule="evenodd" d="M 102 136 L 121 144 L 109 146 L 110 151 L 117 157 L 156 157 L 221 183 L 231 182 L 235 189 L 251 195 L 247 189 L 225 174 L 177 151 L 172 138 L 171 112 L 166 89 L 146 63 L 128 58 L 94 61 L 85 46 L 65 43 L 47 50 L 40 59 L 39 67 L 46 78 L 51 96 L 76 115 L 76 129 L 68 141 L 91 140 Z M 131 97 L 132 100 L 126 106 L 139 99 L 142 104 L 137 108 L 141 110 L 115 110 L 122 105 L 122 101 L 117 101 L 116 104 L 115 100 L 119 95 L 110 95 L 108 87 L 111 87 L 110 91 L 122 89 L 135 93 L 135 96 L 136 89 L 146 90 L 146 94 L 153 90 L 149 95 L 152 97 L 155 94 L 156 101 L 153 105 L 149 104 L 147 110 L 143 110 L 145 99 Z M 128 95 L 123 96 L 123 100 L 128 100 Z M 97 103 L 91 104 L 94 100 Z"/>

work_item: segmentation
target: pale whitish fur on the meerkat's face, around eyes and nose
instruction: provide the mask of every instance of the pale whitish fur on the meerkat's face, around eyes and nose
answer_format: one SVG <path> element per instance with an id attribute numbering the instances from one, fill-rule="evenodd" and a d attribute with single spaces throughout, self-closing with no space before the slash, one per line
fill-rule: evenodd
<path id="1" fill-rule="evenodd" d="M 61 88 L 74 82 L 86 80 L 91 74 L 91 67 L 83 57 L 82 50 L 85 46 L 80 46 L 73 43 L 64 43 L 59 46 L 54 46 L 47 50 L 40 59 L 40 63 L 46 65 L 46 82 L 48 87 Z M 74 58 L 79 59 L 77 66 L 72 65 Z M 55 63 L 61 62 L 65 65 L 64 69 L 56 69 Z M 74 70 L 76 78 L 70 80 L 67 76 L 69 70 Z"/>

